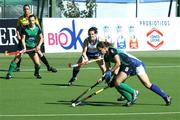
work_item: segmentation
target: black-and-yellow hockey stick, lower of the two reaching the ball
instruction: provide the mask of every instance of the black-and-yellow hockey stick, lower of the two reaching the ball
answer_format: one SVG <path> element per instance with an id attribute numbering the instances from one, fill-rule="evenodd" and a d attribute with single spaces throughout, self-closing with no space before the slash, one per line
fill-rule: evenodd
<path id="1" fill-rule="evenodd" d="M 77 105 L 80 105 L 83 101 L 85 101 L 85 100 L 87 100 L 87 99 L 89 99 L 89 98 L 91 98 L 91 97 L 93 97 L 93 96 L 95 96 L 95 95 L 101 93 L 102 91 L 106 90 L 107 88 L 109 88 L 109 86 L 106 86 L 106 87 L 104 87 L 104 88 L 101 88 L 100 90 L 98 90 L 98 91 L 92 93 L 91 95 L 89 95 L 89 96 L 83 98 L 82 100 L 80 100 L 80 101 L 78 101 L 78 102 L 72 103 L 72 106 L 73 106 L 73 107 L 76 107 Z"/>

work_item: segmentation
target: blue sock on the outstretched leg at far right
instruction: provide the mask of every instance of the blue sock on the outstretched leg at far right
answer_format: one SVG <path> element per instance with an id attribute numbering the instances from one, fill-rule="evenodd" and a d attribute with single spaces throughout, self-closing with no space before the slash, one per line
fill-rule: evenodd
<path id="1" fill-rule="evenodd" d="M 165 99 L 167 97 L 167 94 L 164 93 L 157 85 L 152 84 L 150 89 L 155 92 L 156 94 L 158 94 L 159 96 L 161 96 L 163 99 Z"/>

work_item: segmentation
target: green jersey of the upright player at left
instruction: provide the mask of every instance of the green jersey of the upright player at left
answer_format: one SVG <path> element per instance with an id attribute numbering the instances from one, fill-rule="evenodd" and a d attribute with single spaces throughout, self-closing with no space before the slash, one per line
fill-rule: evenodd
<path id="1" fill-rule="evenodd" d="M 22 31 L 22 35 L 26 35 L 26 46 L 30 49 L 35 48 L 39 42 L 38 38 L 41 33 L 41 29 L 37 25 L 35 25 L 33 28 L 26 26 Z"/>

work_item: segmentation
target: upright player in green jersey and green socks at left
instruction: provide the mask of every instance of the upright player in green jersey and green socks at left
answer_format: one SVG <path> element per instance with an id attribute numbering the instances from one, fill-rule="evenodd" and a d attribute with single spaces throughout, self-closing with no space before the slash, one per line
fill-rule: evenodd
<path id="1" fill-rule="evenodd" d="M 29 25 L 25 26 L 24 29 L 22 29 L 21 41 L 24 48 L 22 50 L 23 52 L 25 52 L 28 49 L 35 48 L 35 51 L 27 52 L 27 54 L 30 56 L 30 58 L 34 63 L 34 68 L 35 68 L 34 76 L 37 79 L 41 79 L 41 75 L 39 74 L 40 59 L 38 56 L 38 51 L 40 50 L 41 45 L 43 43 L 43 35 L 39 26 L 35 24 L 35 18 L 36 17 L 34 15 L 29 16 Z M 12 73 L 16 68 L 18 61 L 19 59 L 14 59 L 11 62 L 6 79 L 12 78 Z"/>

